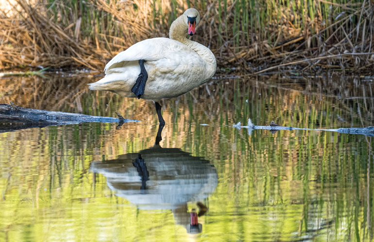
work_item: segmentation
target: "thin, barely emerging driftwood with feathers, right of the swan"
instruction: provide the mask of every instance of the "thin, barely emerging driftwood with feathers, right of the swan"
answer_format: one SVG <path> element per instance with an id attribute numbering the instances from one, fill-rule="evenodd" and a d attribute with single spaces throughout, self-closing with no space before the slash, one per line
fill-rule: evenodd
<path id="1" fill-rule="evenodd" d="M 331 131 L 331 132 L 353 134 L 353 135 L 365 135 L 365 136 L 371 136 L 371 137 L 374 136 L 374 127 L 372 126 L 365 127 L 365 128 L 307 129 L 307 128 L 285 127 L 285 126 L 276 124 L 274 121 L 272 121 L 267 126 L 257 126 L 252 123 L 251 119 L 249 119 L 247 126 L 241 126 L 241 123 L 238 122 L 237 124 L 234 124 L 233 127 L 238 128 L 238 129 L 247 128 L 248 135 L 251 135 L 252 131 L 255 129 L 267 129 L 267 130 L 270 130 L 272 134 L 275 134 L 278 130 L 313 130 L 313 131 Z"/>

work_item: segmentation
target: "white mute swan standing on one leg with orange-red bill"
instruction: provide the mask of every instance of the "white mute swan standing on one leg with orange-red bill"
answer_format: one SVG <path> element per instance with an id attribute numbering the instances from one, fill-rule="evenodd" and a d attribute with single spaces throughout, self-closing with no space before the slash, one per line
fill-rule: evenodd
<path id="1" fill-rule="evenodd" d="M 89 89 L 153 100 L 158 121 L 165 124 L 159 101 L 191 91 L 216 72 L 210 49 L 186 38 L 186 30 L 192 36 L 199 21 L 199 12 L 187 9 L 171 24 L 170 39 L 143 40 L 120 52 L 106 64 L 105 77 L 88 84 Z"/>

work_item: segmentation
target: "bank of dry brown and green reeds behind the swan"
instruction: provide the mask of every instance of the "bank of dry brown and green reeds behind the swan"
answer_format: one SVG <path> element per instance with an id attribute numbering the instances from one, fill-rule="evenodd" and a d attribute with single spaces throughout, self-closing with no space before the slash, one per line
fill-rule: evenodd
<path id="1" fill-rule="evenodd" d="M 208 46 L 219 67 L 362 72 L 374 64 L 371 0 L 5 1 L 11 10 L 0 6 L 2 69 L 101 71 L 136 42 L 168 37 L 172 21 L 190 7 L 202 17 L 191 39 Z"/>

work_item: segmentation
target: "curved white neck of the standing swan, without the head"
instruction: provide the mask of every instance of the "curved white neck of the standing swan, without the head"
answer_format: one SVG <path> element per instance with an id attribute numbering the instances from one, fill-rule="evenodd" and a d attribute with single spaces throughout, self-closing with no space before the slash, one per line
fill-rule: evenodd
<path id="1" fill-rule="evenodd" d="M 179 16 L 170 26 L 169 38 L 181 42 L 193 49 L 207 64 L 206 78 L 214 75 L 217 68 L 216 57 L 209 48 L 186 38 L 188 26 L 184 21 L 184 15 Z"/>

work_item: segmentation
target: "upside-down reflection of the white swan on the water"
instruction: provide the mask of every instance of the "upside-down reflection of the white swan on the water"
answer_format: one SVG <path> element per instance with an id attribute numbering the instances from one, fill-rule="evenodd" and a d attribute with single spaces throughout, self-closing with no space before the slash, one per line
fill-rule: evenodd
<path id="1" fill-rule="evenodd" d="M 206 212 L 198 203 L 199 214 L 187 212 L 187 202 L 200 201 L 215 190 L 217 171 L 209 161 L 177 148 L 159 145 L 163 125 L 150 149 L 122 154 L 115 160 L 93 162 L 93 172 L 106 177 L 116 196 L 136 204 L 139 209 L 171 209 L 176 224 L 186 226 L 188 233 L 201 232 L 197 217 Z"/>

